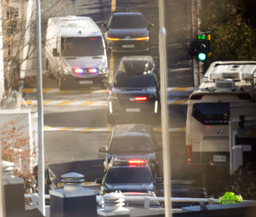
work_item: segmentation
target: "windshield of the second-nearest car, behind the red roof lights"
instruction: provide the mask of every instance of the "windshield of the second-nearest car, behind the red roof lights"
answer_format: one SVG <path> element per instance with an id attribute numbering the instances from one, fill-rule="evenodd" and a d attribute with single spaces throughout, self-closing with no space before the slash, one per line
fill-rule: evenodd
<path id="1" fill-rule="evenodd" d="M 110 144 L 110 152 L 150 152 L 152 140 L 146 136 L 114 136 Z"/>

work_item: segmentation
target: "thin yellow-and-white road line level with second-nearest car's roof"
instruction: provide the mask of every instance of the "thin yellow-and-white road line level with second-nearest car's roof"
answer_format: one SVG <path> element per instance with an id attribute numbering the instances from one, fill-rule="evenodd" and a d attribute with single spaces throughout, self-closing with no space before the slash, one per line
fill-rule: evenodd
<path id="1" fill-rule="evenodd" d="M 44 131 L 88 131 L 88 132 L 110 132 L 111 127 L 65 127 L 65 126 L 44 126 Z M 160 127 L 153 128 L 155 132 L 162 131 Z M 186 132 L 186 127 L 169 128 L 169 132 Z"/>

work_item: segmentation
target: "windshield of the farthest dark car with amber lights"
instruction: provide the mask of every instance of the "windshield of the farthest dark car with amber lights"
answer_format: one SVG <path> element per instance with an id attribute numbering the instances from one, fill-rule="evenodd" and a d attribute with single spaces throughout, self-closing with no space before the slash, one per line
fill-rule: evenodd
<path id="1" fill-rule="evenodd" d="M 110 21 L 111 29 L 146 28 L 146 20 L 141 13 L 116 13 Z"/>

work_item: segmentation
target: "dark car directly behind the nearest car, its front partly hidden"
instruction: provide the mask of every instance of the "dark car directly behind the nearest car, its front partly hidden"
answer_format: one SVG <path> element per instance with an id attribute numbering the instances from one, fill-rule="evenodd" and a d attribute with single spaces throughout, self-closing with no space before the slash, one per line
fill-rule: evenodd
<path id="1" fill-rule="evenodd" d="M 162 165 L 162 150 L 162 145 L 155 140 L 152 126 L 137 124 L 113 126 L 106 148 L 100 148 L 99 152 L 106 153 L 104 169 L 108 169 L 112 157 L 146 157 L 154 163 L 154 170 L 161 177 L 159 165 Z"/>

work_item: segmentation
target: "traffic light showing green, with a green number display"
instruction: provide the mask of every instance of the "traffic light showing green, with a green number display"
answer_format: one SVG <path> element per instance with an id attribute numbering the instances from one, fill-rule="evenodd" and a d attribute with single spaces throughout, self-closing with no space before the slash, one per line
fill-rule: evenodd
<path id="1" fill-rule="evenodd" d="M 197 37 L 197 57 L 199 61 L 207 59 L 207 33 L 199 33 Z"/>

